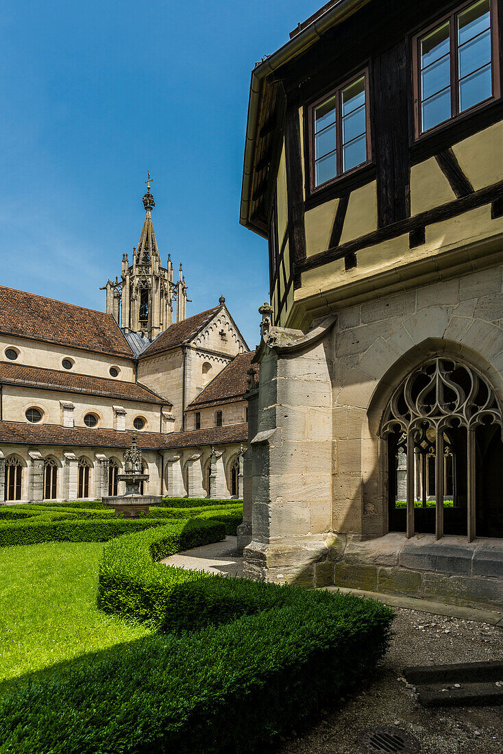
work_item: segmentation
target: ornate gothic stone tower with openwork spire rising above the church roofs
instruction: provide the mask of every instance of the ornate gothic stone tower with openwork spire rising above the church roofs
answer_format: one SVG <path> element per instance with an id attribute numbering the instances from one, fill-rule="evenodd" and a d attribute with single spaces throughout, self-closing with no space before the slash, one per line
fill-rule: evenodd
<path id="1" fill-rule="evenodd" d="M 161 265 L 157 241 L 152 224 L 155 201 L 146 180 L 147 192 L 143 196 L 146 210 L 145 222 L 138 246 L 133 248 L 131 262 L 122 255 L 121 280 L 109 280 L 106 284 L 106 312 L 113 314 L 124 333 L 139 333 L 153 340 L 173 323 L 174 300 L 176 299 L 176 322 L 186 319 L 187 287 L 182 265 L 179 276 L 173 283 L 173 265 L 167 256 L 167 267 Z"/>

